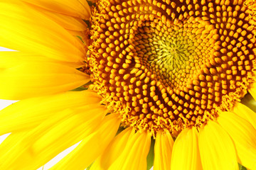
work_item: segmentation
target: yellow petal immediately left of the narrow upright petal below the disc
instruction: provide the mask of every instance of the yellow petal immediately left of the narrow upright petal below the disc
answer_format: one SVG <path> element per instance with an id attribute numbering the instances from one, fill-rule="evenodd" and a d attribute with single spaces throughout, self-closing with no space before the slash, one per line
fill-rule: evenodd
<path id="1" fill-rule="evenodd" d="M 150 149 L 149 132 L 142 131 L 135 133 L 127 141 L 120 156 L 110 166 L 109 170 L 131 170 L 146 169 L 146 157 Z"/>

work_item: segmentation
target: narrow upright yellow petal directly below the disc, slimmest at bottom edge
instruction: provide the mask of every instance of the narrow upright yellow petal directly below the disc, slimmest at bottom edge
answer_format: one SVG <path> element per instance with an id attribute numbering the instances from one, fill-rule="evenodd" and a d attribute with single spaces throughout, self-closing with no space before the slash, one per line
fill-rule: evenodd
<path id="1" fill-rule="evenodd" d="M 155 170 L 171 169 L 171 151 L 173 146 L 174 140 L 168 131 L 156 134 L 156 143 L 154 145 Z"/>

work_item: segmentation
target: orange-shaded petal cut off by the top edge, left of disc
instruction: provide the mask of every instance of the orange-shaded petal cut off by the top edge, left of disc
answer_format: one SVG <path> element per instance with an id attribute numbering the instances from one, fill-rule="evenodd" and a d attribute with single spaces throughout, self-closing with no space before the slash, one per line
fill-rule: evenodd
<path id="1" fill-rule="evenodd" d="M 90 6 L 82 0 L 22 0 L 26 3 L 45 8 L 48 11 L 75 16 L 82 19 L 90 18 Z"/>

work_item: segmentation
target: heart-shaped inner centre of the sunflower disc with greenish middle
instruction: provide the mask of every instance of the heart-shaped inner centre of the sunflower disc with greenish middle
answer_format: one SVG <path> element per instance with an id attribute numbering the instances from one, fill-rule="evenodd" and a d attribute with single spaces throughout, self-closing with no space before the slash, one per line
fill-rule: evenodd
<path id="1" fill-rule="evenodd" d="M 213 60 L 206 52 L 213 50 L 216 30 L 199 17 L 190 17 L 177 25 L 165 24 L 166 30 L 158 30 L 161 21 L 153 22 L 136 33 L 134 55 L 164 86 L 184 91 L 195 76 L 201 74 L 200 70 Z"/>

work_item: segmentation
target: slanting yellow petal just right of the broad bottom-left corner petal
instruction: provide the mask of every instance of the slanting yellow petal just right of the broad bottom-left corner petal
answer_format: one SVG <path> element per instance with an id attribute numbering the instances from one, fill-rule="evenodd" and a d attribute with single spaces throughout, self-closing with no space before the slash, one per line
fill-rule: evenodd
<path id="1" fill-rule="evenodd" d="M 110 141 L 116 135 L 120 124 L 118 114 L 107 115 L 102 120 L 102 125 L 98 128 L 95 134 L 92 134 L 82 140 L 73 152 L 70 152 L 58 164 L 55 164 L 51 169 L 75 169 L 83 170 L 104 151 Z"/>

